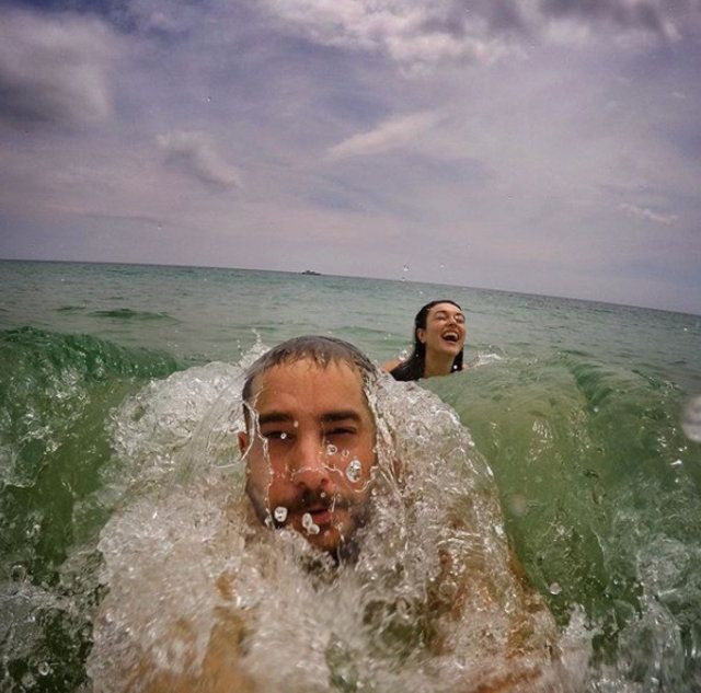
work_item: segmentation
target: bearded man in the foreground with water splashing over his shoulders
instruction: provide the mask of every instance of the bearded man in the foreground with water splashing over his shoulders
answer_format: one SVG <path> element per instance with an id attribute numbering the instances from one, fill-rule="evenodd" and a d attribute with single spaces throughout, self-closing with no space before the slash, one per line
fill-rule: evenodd
<path id="1" fill-rule="evenodd" d="M 210 544 L 221 534 L 233 558 L 216 588 L 188 596 L 191 615 L 171 620 L 165 635 L 153 635 L 151 617 L 139 627 L 123 624 L 118 647 L 141 631 L 153 651 L 127 648 L 128 672 L 116 683 L 114 675 L 100 680 L 100 657 L 108 666 L 114 658 L 95 657 L 96 691 L 565 690 L 554 623 L 509 562 L 495 495 L 478 478 L 489 474 L 468 469 L 463 483 L 452 469 L 450 455 L 469 447 L 469 436 L 433 400 L 433 430 L 421 429 L 425 415 L 414 418 L 406 402 L 413 397 L 421 412 L 433 395 L 378 372 L 355 347 L 330 337 L 291 339 L 253 365 L 238 437 L 249 519 L 237 524 L 234 512 L 220 532 L 205 532 Z M 366 393 L 376 401 L 383 386 L 390 391 L 380 420 Z M 402 467 L 398 455 L 405 455 Z M 145 505 L 140 517 L 159 512 Z M 181 521 L 183 511 L 171 515 Z M 192 562 L 199 531 L 185 543 Z M 204 559 L 214 551 L 206 545 Z M 319 562 L 300 565 L 296 556 Z M 127 587 L 110 593 L 103 620 L 118 610 L 119 594 L 134 594 L 134 571 L 129 563 Z M 191 623 L 200 616 L 204 628 Z M 99 632 L 95 650 L 101 640 Z M 366 662 L 366 681 L 355 659 Z"/>

